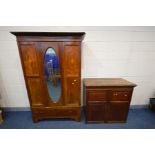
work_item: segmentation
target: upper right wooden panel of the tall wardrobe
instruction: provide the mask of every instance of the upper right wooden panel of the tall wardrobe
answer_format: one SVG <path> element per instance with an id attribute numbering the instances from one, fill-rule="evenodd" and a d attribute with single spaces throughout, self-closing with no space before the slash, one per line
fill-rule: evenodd
<path id="1" fill-rule="evenodd" d="M 65 43 L 65 74 L 66 76 L 79 76 L 80 75 L 80 46 L 78 43 Z"/>

